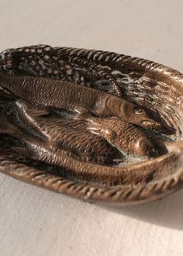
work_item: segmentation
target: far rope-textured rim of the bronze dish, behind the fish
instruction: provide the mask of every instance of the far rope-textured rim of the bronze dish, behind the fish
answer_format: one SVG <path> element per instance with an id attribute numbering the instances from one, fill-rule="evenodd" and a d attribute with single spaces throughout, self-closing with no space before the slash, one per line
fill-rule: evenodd
<path id="1" fill-rule="evenodd" d="M 3 55 L 4 54 L 12 54 L 15 51 L 21 52 L 22 50 L 26 50 L 27 48 L 35 47 L 35 48 L 49 48 L 48 51 L 53 51 L 56 53 L 59 53 L 63 51 L 63 53 L 67 53 L 68 55 L 71 55 L 72 57 L 87 57 L 88 61 L 95 61 L 95 62 L 103 62 L 108 63 L 112 62 L 112 64 L 125 64 L 131 62 L 132 64 L 136 64 L 142 69 L 147 69 L 149 71 L 157 71 L 157 72 L 163 72 L 165 75 L 167 75 L 169 78 L 174 78 L 174 81 L 181 80 L 181 83 L 183 84 L 183 74 L 181 74 L 180 71 L 174 70 L 171 67 L 167 67 L 163 64 L 159 64 L 154 61 L 150 61 L 147 59 L 143 59 L 140 57 L 132 57 L 130 55 L 126 54 L 116 54 L 115 52 L 110 51 L 104 51 L 104 50 L 88 50 L 85 48 L 74 48 L 74 47 L 51 47 L 47 44 L 37 44 L 37 45 L 31 45 L 26 47 L 18 47 L 18 48 L 9 48 L 6 50 L 3 50 L 0 53 L 0 56 L 2 56 L 3 61 Z M 9 57 L 10 57 L 9 55 Z M 106 56 L 107 55 L 107 56 Z M 105 60 L 104 60 L 105 59 Z M 1 58 L 0 58 L 1 60 Z M 1 64 L 1 63 L 0 63 Z"/>

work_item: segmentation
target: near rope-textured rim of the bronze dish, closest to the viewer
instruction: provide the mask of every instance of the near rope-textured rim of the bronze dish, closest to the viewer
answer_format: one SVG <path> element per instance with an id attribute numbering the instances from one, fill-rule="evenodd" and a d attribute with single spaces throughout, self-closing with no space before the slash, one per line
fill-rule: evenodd
<path id="1" fill-rule="evenodd" d="M 169 195 L 183 186 L 183 170 L 168 178 L 147 185 L 102 187 L 102 185 L 89 185 L 75 182 L 46 171 L 37 171 L 25 164 L 9 161 L 1 157 L 0 171 L 13 178 L 17 178 L 33 185 L 50 189 L 54 192 L 64 193 L 72 197 L 90 202 L 107 202 L 112 205 L 133 205 L 153 201 Z"/>

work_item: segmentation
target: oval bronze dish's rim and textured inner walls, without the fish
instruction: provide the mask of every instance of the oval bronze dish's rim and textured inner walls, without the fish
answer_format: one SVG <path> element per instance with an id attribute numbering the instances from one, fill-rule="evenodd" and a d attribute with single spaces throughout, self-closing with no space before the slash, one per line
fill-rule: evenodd
<path id="1" fill-rule="evenodd" d="M 138 160 L 136 165 L 133 164 L 133 174 L 134 171 L 137 174 L 139 171 L 142 173 L 144 171 L 146 175 L 149 169 L 152 171 L 151 176 L 140 182 L 133 181 L 130 171 L 131 176 L 129 179 L 127 177 L 125 182 L 115 181 L 112 184 L 112 182 L 99 182 L 98 177 L 90 179 L 88 176 L 85 178 L 85 175 L 77 176 L 77 173 L 68 175 L 67 167 L 58 173 L 50 165 L 49 168 L 45 167 L 47 164 L 43 161 L 40 165 L 34 165 L 34 158 L 31 157 L 32 164 L 29 164 L 29 159 L 27 160 L 29 157 L 26 157 L 26 163 L 23 136 L 22 151 L 18 148 L 17 153 L 17 146 L 12 148 L 13 136 L 10 138 L 5 135 L 7 132 L 1 133 L 0 171 L 2 173 L 78 199 L 114 204 L 134 204 L 158 199 L 180 189 L 183 185 L 183 74 L 180 72 L 153 61 L 123 54 L 47 45 L 3 51 L 0 54 L 0 71 L 11 78 L 21 76 L 51 78 L 53 81 L 72 82 L 78 86 L 116 95 L 157 113 L 167 126 L 174 130 L 174 133 L 166 135 L 164 154 L 149 160 Z M 2 102 L 4 100 L 7 102 L 9 93 L 11 95 L 12 92 L 3 87 L 1 75 L 0 86 L 0 99 Z M 58 92 L 55 92 L 55 97 L 59 97 Z M 159 135 L 164 137 L 162 133 Z M 41 147 L 39 141 L 36 141 L 36 150 Z M 109 164 L 98 164 L 98 176 L 102 171 L 101 166 L 104 165 L 109 166 Z"/>

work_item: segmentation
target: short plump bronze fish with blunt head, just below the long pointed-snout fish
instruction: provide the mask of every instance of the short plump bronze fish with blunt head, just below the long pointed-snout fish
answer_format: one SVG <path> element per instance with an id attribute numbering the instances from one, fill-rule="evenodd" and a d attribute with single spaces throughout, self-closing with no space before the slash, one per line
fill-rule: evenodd
<path id="1" fill-rule="evenodd" d="M 147 138 L 142 130 L 132 123 L 122 119 L 109 117 L 99 119 L 86 116 L 89 122 L 88 130 L 105 137 L 112 145 L 115 145 L 123 153 L 135 154 L 137 156 L 153 157 L 156 154 L 153 143 Z"/>

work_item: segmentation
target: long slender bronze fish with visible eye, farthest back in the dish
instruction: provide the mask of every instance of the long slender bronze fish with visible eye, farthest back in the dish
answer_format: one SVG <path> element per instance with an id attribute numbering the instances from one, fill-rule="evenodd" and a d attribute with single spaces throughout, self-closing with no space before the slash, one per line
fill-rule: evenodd
<path id="1" fill-rule="evenodd" d="M 49 78 L 6 76 L 0 74 L 0 85 L 13 95 L 32 104 L 73 110 L 82 107 L 96 116 L 116 116 L 126 122 L 153 130 L 165 130 L 161 122 L 132 102 L 105 92 Z M 56 97 L 55 95 L 59 95 Z"/>

